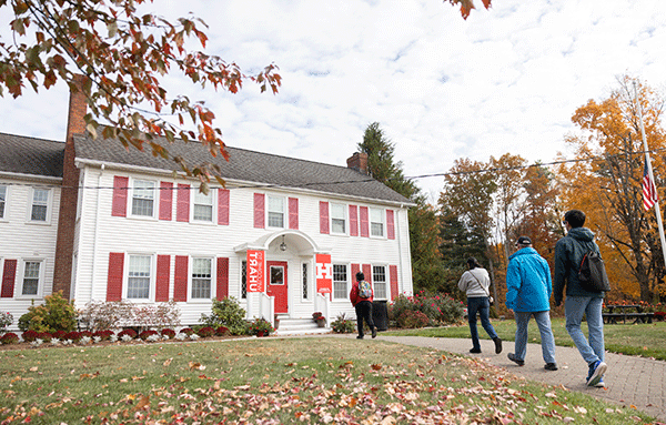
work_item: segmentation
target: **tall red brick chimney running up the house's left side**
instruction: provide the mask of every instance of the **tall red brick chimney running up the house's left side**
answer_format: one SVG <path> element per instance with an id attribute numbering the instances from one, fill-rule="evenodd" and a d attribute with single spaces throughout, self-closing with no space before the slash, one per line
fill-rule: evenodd
<path id="1" fill-rule="evenodd" d="M 74 75 L 70 87 L 70 102 L 62 165 L 62 188 L 60 192 L 60 212 L 58 215 L 58 237 L 56 241 L 56 264 L 53 270 L 53 292 L 62 291 L 69 300 L 72 281 L 72 261 L 74 254 L 74 227 L 77 225 L 77 204 L 79 201 L 79 169 L 74 165 L 77 156 L 74 134 L 85 131 L 83 117 L 87 113 L 87 100 L 83 93 L 85 75 Z"/>

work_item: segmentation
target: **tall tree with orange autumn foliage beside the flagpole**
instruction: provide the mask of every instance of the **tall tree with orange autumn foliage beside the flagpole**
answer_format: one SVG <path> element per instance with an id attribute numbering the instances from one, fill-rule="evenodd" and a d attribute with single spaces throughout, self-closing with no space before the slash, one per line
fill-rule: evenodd
<path id="1" fill-rule="evenodd" d="M 624 75 L 608 99 L 589 100 L 572 121 L 581 133 L 567 136 L 579 162 L 563 164 L 558 174 L 562 196 L 569 209 L 587 214 L 586 226 L 597 233 L 609 277 L 617 291 L 653 301 L 666 295 L 664 256 L 654 210 L 643 209 L 642 186 L 645 153 L 639 130 L 634 82 L 644 111 L 652 151 L 666 149 L 662 128 L 664 99 L 637 79 Z M 653 161 L 656 184 L 663 194 L 665 163 Z"/>

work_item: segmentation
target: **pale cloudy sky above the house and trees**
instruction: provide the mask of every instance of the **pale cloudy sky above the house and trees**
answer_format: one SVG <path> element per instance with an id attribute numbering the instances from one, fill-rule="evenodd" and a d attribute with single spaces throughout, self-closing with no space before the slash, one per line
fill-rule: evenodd
<path id="1" fill-rule="evenodd" d="M 504 153 L 529 162 L 567 154 L 571 117 L 628 73 L 666 83 L 664 0 L 493 0 L 465 21 L 442 0 L 154 0 L 168 18 L 209 24 L 206 52 L 252 72 L 280 68 L 276 95 L 201 91 L 170 78 L 170 93 L 205 100 L 226 144 L 346 165 L 379 122 L 407 176 L 458 158 Z M 7 21 L 3 19 L 3 23 Z M 2 32 L 4 34 L 4 31 Z M 28 92 L 27 92 L 28 93 Z M 1 132 L 62 140 L 62 83 L 0 98 Z M 422 178 L 431 199 L 441 176 Z"/>

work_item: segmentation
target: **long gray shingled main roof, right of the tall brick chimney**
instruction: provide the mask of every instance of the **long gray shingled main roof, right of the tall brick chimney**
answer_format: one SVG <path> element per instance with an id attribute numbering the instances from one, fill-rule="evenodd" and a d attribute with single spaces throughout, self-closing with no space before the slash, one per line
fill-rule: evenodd
<path id="1" fill-rule="evenodd" d="M 77 159 L 138 165 L 157 170 L 180 171 L 171 160 L 155 158 L 150 153 L 140 152 L 134 148 L 125 150 L 118 141 L 93 141 L 89 136 L 77 136 Z M 383 183 L 361 174 L 346 166 L 331 165 L 319 162 L 299 160 L 253 152 L 244 149 L 226 146 L 230 160 L 222 156 L 213 158 L 199 142 L 185 143 L 176 140 L 168 145 L 172 155 L 181 155 L 188 164 L 213 163 L 222 170 L 222 178 L 260 185 L 269 184 L 283 188 L 302 188 L 342 195 L 361 196 L 366 199 L 400 202 L 412 202 L 393 191 Z"/>

